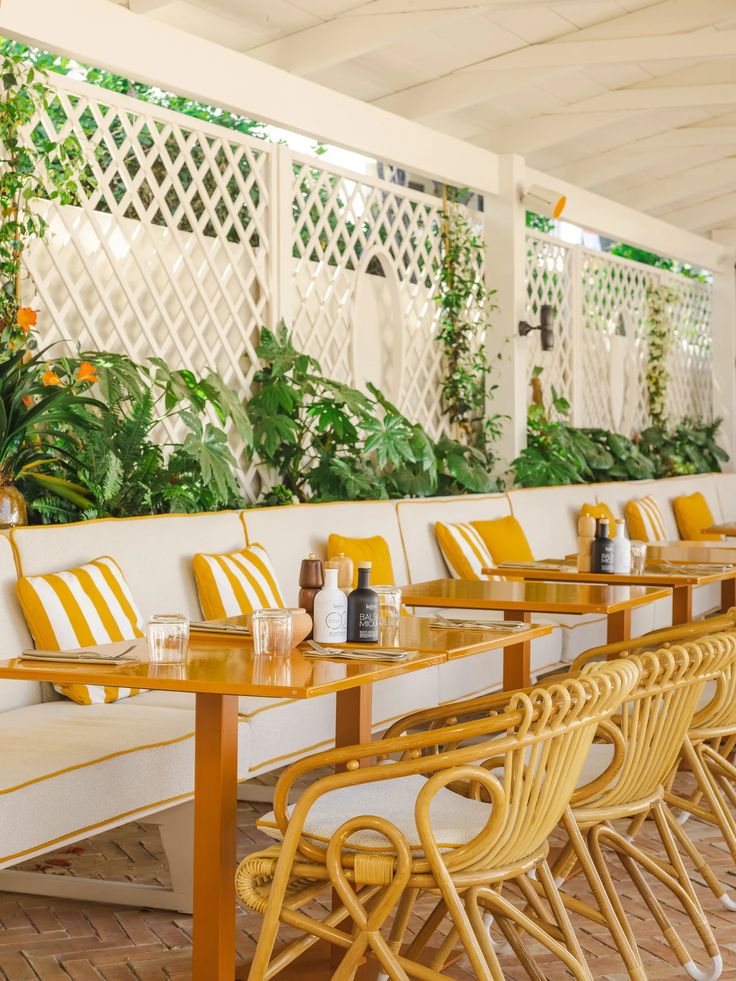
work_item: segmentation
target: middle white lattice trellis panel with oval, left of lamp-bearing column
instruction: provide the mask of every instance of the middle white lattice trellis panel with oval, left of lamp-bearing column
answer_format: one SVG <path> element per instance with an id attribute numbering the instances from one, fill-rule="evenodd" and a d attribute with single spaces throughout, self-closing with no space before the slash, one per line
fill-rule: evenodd
<path id="1" fill-rule="evenodd" d="M 436 341 L 440 213 L 428 195 L 294 155 L 290 306 L 297 341 L 334 377 L 386 388 L 434 437 L 449 433 Z M 363 321 L 366 290 L 378 289 L 365 280 L 379 277 L 384 312 L 379 322 Z"/>

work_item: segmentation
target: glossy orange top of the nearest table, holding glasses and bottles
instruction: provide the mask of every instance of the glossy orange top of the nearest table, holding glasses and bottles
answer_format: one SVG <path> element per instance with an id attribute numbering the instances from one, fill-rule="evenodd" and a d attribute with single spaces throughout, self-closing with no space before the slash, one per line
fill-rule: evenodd
<path id="1" fill-rule="evenodd" d="M 415 622 L 420 619 L 424 622 Z M 151 664 L 146 642 L 141 639 L 136 645 L 135 654 L 140 658 L 137 662 L 74 664 L 13 658 L 0 661 L 0 678 L 220 695 L 313 698 L 419 671 L 450 658 L 502 649 L 541 637 L 551 629 L 545 625 L 530 625 L 523 632 L 430 629 L 428 617 L 402 620 L 406 622 L 400 625 L 399 637 L 393 643 L 386 639 L 381 646 L 410 648 L 419 650 L 419 654 L 395 664 L 311 658 L 298 648 L 285 657 L 257 657 L 250 638 L 213 641 L 193 635 L 183 664 Z"/>

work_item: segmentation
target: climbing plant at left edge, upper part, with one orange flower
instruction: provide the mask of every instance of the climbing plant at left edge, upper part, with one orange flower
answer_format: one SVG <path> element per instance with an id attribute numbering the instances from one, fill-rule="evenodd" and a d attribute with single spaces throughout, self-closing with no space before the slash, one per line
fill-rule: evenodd
<path id="1" fill-rule="evenodd" d="M 77 138 L 52 140 L 41 115 L 52 97 L 43 71 L 21 54 L 0 57 L 0 358 L 18 347 L 35 345 L 31 328 L 37 313 L 22 305 L 23 263 L 34 239 L 47 225 L 40 201 L 76 200 L 84 179 Z"/>

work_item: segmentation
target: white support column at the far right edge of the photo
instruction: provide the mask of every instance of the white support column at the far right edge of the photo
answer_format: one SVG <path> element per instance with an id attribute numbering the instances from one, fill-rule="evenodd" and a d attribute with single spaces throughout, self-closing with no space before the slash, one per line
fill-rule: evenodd
<path id="1" fill-rule="evenodd" d="M 721 445 L 736 470 L 736 272 L 733 264 L 713 276 L 713 415 L 723 419 Z"/>

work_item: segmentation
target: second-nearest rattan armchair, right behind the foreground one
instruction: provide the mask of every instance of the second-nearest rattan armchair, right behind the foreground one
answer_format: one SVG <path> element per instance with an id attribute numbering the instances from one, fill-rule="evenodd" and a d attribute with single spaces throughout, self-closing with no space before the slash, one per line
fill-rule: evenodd
<path id="1" fill-rule="evenodd" d="M 726 690 L 723 678 L 733 670 L 735 654 L 734 635 L 715 634 L 624 659 L 641 665 L 642 680 L 614 720 L 625 747 L 623 763 L 617 762 L 613 779 L 598 779 L 576 791 L 563 819 L 569 843 L 553 867 L 560 885 L 568 880 L 577 863 L 594 891 L 599 882 L 603 883 L 607 903 L 592 907 L 569 895 L 566 886 L 567 905 L 597 922 L 602 917 L 626 958 L 636 940 L 608 870 L 606 853 L 616 854 L 677 960 L 698 981 L 717 978 L 722 961 L 677 841 L 696 864 L 698 853 L 684 829 L 677 825 L 665 799 L 665 788 L 687 746 L 705 685 L 716 682 L 714 705 L 720 706 Z M 595 669 L 594 663 L 585 665 L 583 673 L 591 669 Z M 662 855 L 644 850 L 635 841 L 648 818 L 659 835 Z M 613 827 L 616 820 L 628 822 L 626 832 Z M 681 905 L 710 959 L 706 970 L 696 965 L 644 872 L 665 886 Z M 615 911 L 613 917 L 611 908 Z M 643 977 L 643 971 L 643 966 L 639 973 L 629 965 L 632 977 Z"/>

